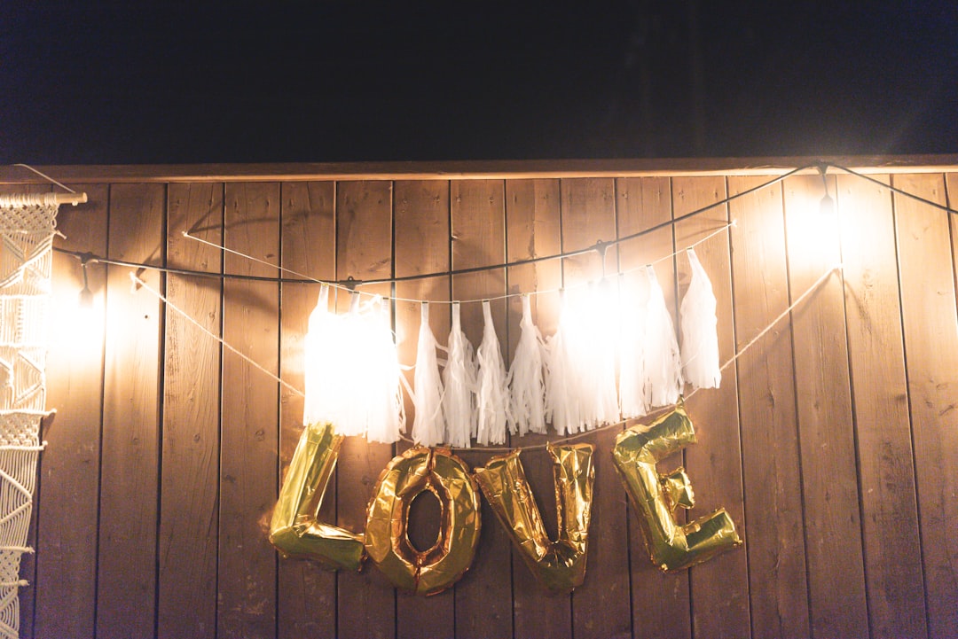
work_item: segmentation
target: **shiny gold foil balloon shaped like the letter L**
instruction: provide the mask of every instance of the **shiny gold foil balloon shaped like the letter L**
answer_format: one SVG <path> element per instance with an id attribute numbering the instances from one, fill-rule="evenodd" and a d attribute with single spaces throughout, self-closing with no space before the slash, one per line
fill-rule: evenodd
<path id="1" fill-rule="evenodd" d="M 273 509 L 269 542 L 286 556 L 359 570 L 362 536 L 316 521 L 342 443 L 343 436 L 331 424 L 310 424 L 303 430 Z"/>

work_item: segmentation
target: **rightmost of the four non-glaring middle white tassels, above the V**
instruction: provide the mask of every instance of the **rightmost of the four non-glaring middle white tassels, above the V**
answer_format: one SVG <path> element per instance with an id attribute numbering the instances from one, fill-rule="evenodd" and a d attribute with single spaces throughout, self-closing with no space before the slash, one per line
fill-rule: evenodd
<path id="1" fill-rule="evenodd" d="M 522 296 L 519 342 L 509 368 L 509 430 L 519 435 L 545 432 L 545 381 L 542 378 L 542 336 L 533 323 L 529 296 Z"/>

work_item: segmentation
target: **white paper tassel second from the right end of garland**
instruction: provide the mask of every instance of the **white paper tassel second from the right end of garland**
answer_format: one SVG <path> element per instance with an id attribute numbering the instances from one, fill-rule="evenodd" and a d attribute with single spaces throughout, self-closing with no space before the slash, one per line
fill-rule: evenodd
<path id="1" fill-rule="evenodd" d="M 642 358 L 646 399 L 650 407 L 678 401 L 682 389 L 682 360 L 675 340 L 672 316 L 665 305 L 655 269 L 646 266 L 649 277 L 649 304 L 646 308 L 646 342 Z"/>

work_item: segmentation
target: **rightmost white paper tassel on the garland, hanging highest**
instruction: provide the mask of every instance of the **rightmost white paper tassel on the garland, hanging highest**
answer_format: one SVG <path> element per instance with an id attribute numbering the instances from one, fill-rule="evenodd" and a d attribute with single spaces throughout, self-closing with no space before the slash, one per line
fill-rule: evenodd
<path id="1" fill-rule="evenodd" d="M 716 297 L 694 249 L 689 249 L 692 281 L 682 298 L 682 376 L 696 388 L 718 388 L 719 333 Z"/>

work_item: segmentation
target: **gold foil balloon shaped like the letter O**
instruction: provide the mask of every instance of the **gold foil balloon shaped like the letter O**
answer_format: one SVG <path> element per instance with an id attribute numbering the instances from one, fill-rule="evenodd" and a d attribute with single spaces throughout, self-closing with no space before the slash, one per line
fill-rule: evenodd
<path id="1" fill-rule="evenodd" d="M 409 541 L 409 506 L 430 491 L 442 507 L 439 538 L 420 552 Z M 468 570 L 479 541 L 479 489 L 459 457 L 417 447 L 379 474 L 366 516 L 366 552 L 397 587 L 432 595 Z"/>

